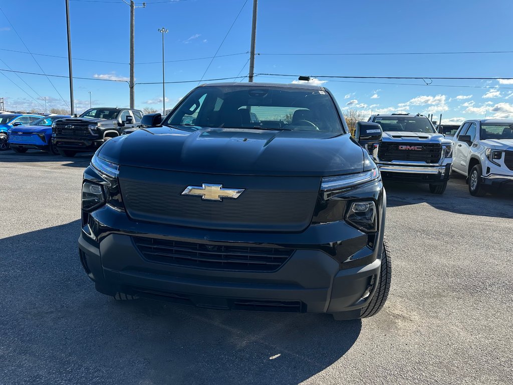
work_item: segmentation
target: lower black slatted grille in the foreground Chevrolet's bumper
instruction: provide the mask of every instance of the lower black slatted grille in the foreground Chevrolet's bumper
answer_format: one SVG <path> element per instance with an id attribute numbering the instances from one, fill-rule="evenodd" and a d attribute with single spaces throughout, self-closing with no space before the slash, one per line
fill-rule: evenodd
<path id="1" fill-rule="evenodd" d="M 290 257 L 293 249 L 212 245 L 157 238 L 132 237 L 149 261 L 175 266 L 231 271 L 270 272 Z"/>

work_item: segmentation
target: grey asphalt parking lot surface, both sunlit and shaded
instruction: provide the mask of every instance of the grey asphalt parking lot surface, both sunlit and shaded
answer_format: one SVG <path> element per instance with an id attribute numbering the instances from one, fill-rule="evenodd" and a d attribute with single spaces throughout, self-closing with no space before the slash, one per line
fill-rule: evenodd
<path id="1" fill-rule="evenodd" d="M 0 153 L 0 384 L 513 383 L 513 196 L 386 184 L 375 317 L 116 302 L 78 260 L 90 156 Z"/>

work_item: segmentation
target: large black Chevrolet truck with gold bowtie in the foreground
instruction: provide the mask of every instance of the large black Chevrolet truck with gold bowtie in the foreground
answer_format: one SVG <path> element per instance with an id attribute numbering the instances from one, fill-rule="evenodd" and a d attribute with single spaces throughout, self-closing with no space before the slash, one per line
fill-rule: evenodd
<path id="1" fill-rule="evenodd" d="M 326 88 L 209 84 L 142 124 L 84 172 L 78 246 L 97 291 L 336 319 L 381 309 L 385 190 Z"/>

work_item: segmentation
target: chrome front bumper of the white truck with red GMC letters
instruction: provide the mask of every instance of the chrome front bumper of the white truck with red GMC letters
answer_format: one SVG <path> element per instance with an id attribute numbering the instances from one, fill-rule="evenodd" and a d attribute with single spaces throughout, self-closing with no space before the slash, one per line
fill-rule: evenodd
<path id="1" fill-rule="evenodd" d="M 449 180 L 452 171 L 452 164 L 422 166 L 378 163 L 378 167 L 383 178 L 421 183 L 444 183 Z"/>

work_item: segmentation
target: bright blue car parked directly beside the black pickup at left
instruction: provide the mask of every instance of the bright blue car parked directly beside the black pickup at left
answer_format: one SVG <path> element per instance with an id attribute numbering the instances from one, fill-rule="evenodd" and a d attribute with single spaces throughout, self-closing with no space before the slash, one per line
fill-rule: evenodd
<path id="1" fill-rule="evenodd" d="M 27 152 L 30 148 L 48 151 L 58 155 L 52 143 L 52 123 L 57 119 L 69 118 L 69 115 L 50 115 L 29 125 L 9 129 L 9 145 L 16 152 Z"/>

